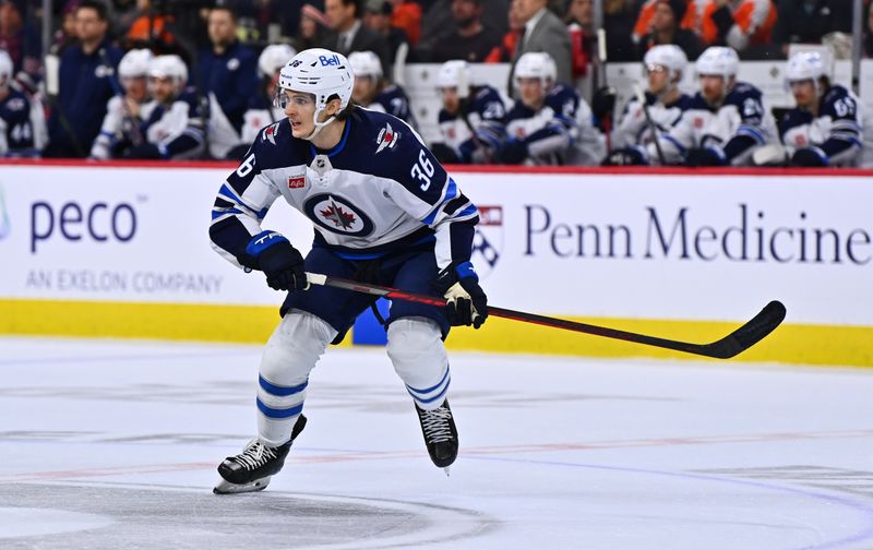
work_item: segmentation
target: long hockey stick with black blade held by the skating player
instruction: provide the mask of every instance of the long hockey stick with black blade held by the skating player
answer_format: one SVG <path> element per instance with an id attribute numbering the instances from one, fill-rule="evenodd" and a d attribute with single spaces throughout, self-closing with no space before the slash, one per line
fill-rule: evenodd
<path id="1" fill-rule="evenodd" d="M 370 296 L 380 296 L 383 298 L 393 298 L 395 300 L 424 303 L 428 306 L 435 306 L 438 308 L 445 307 L 445 300 L 443 299 L 433 296 L 406 292 L 397 288 L 369 285 L 367 283 L 358 283 L 330 275 L 320 275 L 316 273 L 307 273 L 307 278 L 312 285 L 343 288 L 345 290 L 363 292 Z M 543 326 L 551 326 L 553 328 L 564 328 L 566 331 L 575 331 L 585 334 L 593 334 L 595 336 L 603 336 L 607 338 L 644 344 L 646 346 L 673 349 L 677 351 L 684 351 L 686 354 L 704 357 L 714 357 L 716 359 L 730 359 L 731 357 L 754 346 L 761 342 L 762 338 L 772 333 L 774 328 L 779 326 L 779 323 L 781 323 L 785 319 L 786 310 L 781 302 L 774 300 L 765 306 L 764 309 L 761 310 L 757 315 L 752 318 L 751 321 L 740 326 L 728 336 L 709 344 L 692 344 L 689 342 L 659 338 L 657 336 L 647 336 L 645 334 L 619 331 L 617 328 L 608 328 L 606 326 L 586 323 L 577 323 L 574 321 L 537 315 L 535 313 L 514 311 L 493 306 L 488 307 L 488 313 L 490 315 L 512 319 L 514 321 L 522 321 L 524 323 L 540 324 Z"/>

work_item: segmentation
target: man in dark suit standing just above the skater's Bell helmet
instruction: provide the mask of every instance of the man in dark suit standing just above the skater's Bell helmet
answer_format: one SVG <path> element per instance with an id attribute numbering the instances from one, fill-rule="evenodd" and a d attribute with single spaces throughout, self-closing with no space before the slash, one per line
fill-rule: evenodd
<path id="1" fill-rule="evenodd" d="M 361 23 L 361 0 L 326 0 L 327 20 L 335 36 L 322 46 L 348 56 L 352 51 L 372 51 L 379 56 L 382 67 L 390 71 L 394 64 L 387 39 Z"/>

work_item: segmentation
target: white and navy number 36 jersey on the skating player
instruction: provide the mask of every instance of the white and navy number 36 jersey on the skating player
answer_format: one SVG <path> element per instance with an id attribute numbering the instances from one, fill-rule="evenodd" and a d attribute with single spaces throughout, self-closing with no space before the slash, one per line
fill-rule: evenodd
<path id="1" fill-rule="evenodd" d="M 216 251 L 244 265 L 246 246 L 278 198 L 312 220 L 313 247 L 349 259 L 435 240 L 440 268 L 466 262 L 479 219 L 417 133 L 361 108 L 331 151 L 294 138 L 287 119 L 263 129 L 218 192 L 210 229 Z"/>

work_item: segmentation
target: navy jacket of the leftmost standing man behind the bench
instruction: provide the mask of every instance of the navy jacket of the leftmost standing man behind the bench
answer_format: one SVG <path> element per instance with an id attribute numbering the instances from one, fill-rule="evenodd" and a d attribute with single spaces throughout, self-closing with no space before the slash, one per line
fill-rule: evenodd
<path id="1" fill-rule="evenodd" d="M 71 46 L 61 55 L 58 104 L 49 119 L 49 141 L 55 156 L 84 156 L 100 131 L 106 104 L 115 95 L 109 80 L 113 75 L 121 50 L 104 41 L 93 53 Z M 112 76 L 113 77 L 113 76 Z M 68 124 L 62 124 L 61 112 Z M 74 138 L 68 132 L 72 132 Z M 75 152 L 74 140 L 81 151 Z"/>

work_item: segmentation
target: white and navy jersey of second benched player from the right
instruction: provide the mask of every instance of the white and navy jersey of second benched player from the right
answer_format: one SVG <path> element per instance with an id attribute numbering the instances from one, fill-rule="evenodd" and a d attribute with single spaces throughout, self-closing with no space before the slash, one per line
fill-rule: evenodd
<path id="1" fill-rule="evenodd" d="M 682 164 L 692 148 L 718 147 L 729 165 L 745 165 L 761 145 L 775 143 L 776 122 L 764 108 L 761 91 L 736 84 L 721 107 L 714 109 L 698 92 L 679 122 L 661 135 L 659 143 L 668 165 Z M 648 160 L 658 163 L 655 143 L 646 147 Z"/>

